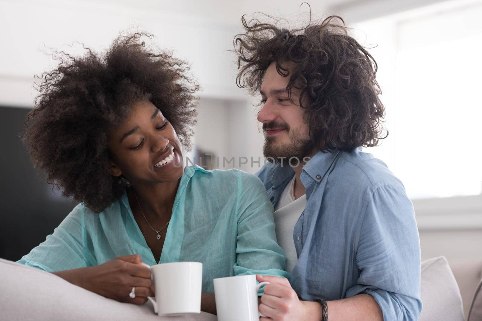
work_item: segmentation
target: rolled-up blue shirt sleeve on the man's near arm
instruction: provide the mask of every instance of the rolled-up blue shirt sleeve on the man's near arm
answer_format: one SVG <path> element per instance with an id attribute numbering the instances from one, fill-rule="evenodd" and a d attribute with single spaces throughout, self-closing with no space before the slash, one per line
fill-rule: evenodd
<path id="1" fill-rule="evenodd" d="M 347 297 L 373 296 L 384 320 L 418 320 L 420 241 L 413 205 L 404 190 L 384 185 L 367 194 L 356 263 L 357 285 Z"/>

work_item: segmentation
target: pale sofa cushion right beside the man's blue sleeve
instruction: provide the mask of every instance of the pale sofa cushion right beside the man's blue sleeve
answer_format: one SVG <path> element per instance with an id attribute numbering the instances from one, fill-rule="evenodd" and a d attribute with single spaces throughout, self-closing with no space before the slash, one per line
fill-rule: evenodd
<path id="1" fill-rule="evenodd" d="M 419 321 L 464 321 L 462 297 L 445 257 L 422 262 L 422 313 Z"/>

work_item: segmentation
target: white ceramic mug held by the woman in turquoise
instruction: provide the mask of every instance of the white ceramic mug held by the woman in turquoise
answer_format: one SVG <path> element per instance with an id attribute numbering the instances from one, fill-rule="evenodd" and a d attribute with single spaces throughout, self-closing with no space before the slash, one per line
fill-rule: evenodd
<path id="1" fill-rule="evenodd" d="M 155 313 L 163 316 L 201 313 L 202 263 L 162 263 L 149 269 L 156 298 L 147 298 Z"/>

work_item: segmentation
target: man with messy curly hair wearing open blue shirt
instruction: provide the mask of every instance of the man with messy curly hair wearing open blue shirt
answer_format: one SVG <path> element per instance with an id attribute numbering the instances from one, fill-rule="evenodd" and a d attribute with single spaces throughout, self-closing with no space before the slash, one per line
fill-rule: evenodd
<path id="1" fill-rule="evenodd" d="M 341 23 L 340 23 L 341 22 Z M 402 183 L 362 152 L 385 138 L 376 62 L 343 20 L 287 30 L 242 18 L 237 83 L 261 95 L 275 207 L 290 280 L 269 281 L 268 320 L 418 320 L 420 244 Z"/>

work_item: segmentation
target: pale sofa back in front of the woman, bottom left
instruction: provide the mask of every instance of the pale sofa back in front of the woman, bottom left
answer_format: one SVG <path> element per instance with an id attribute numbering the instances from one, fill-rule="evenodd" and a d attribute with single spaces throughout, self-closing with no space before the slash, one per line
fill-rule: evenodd
<path id="1" fill-rule="evenodd" d="M 172 320 L 154 314 L 150 303 L 120 303 L 5 259 L 0 259 L 0 284 L 1 320 Z M 215 321 L 216 317 L 201 312 L 176 320 Z"/>

